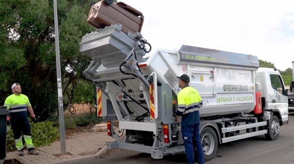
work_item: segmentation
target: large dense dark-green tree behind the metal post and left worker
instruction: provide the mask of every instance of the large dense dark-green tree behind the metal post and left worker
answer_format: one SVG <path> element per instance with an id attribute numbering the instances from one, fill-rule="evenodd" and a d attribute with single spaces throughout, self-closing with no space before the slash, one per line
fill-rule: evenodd
<path id="1" fill-rule="evenodd" d="M 94 94 L 93 84 L 82 80 L 79 71 L 90 62 L 79 52 L 81 37 L 95 30 L 86 22 L 90 2 L 57 0 L 64 107 L 73 103 L 71 97 L 77 101 Z M 57 110 L 53 0 L 0 0 L 0 57 L 0 103 L 18 82 L 38 119 L 48 119 Z M 83 95 L 76 90 L 80 84 Z"/>

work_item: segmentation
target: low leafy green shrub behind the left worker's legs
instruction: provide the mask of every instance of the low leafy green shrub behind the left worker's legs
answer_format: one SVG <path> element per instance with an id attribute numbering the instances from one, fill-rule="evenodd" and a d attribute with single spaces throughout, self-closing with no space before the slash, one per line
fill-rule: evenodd
<path id="1" fill-rule="evenodd" d="M 31 123 L 31 133 L 35 147 L 49 145 L 59 138 L 58 128 L 56 128 L 54 122 L 49 121 Z M 23 145 L 25 146 L 24 140 Z M 7 151 L 15 150 L 17 149 L 15 147 L 13 131 L 9 130 L 7 132 Z"/>

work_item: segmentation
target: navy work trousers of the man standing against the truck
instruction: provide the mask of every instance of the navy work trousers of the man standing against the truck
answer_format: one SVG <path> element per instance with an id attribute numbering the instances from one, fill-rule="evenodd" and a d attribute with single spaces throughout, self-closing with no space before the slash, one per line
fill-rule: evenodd
<path id="1" fill-rule="evenodd" d="M 198 164 L 204 164 L 202 144 L 199 135 L 199 123 L 182 126 L 182 137 L 187 156 L 187 164 L 194 164 L 194 146 L 197 149 Z"/>

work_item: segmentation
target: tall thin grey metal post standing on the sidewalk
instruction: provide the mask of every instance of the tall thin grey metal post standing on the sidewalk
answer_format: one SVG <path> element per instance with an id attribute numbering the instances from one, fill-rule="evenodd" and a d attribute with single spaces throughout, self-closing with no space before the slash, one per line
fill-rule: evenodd
<path id="1" fill-rule="evenodd" d="M 58 91 L 59 135 L 60 135 L 60 150 L 61 150 L 60 154 L 66 155 L 56 0 L 53 0 L 53 4 L 54 4 L 54 25 L 55 25 L 55 53 L 56 53 L 56 75 L 57 75 L 57 91 Z"/>

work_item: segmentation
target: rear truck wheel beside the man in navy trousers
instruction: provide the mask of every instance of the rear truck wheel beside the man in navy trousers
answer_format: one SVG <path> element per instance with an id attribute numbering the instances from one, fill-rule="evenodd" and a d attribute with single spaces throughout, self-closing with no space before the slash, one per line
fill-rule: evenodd
<path id="1" fill-rule="evenodd" d="M 212 128 L 206 127 L 200 132 L 200 139 L 204 161 L 212 160 L 218 151 L 219 142 L 216 132 Z M 197 154 L 195 154 L 195 157 L 197 157 Z"/>

